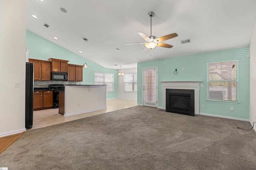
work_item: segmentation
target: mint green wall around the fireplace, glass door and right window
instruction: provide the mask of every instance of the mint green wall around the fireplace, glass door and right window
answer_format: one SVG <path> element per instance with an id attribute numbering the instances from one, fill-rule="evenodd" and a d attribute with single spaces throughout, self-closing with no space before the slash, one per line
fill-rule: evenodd
<path id="1" fill-rule="evenodd" d="M 161 81 L 201 80 L 200 84 L 204 84 L 204 87 L 200 87 L 200 113 L 249 119 L 249 58 L 246 55 L 249 55 L 249 47 L 138 63 L 138 84 L 142 84 L 143 68 L 157 66 L 158 100 L 160 100 L 158 107 L 162 107 Z M 231 60 L 238 60 L 239 103 L 206 101 L 206 63 Z M 185 68 L 184 71 L 182 71 L 182 67 Z M 177 68 L 178 74 L 173 73 L 175 68 Z M 142 86 L 138 86 L 137 98 L 138 104 L 142 104 Z M 201 107 L 202 104 L 205 105 L 204 108 Z M 230 107 L 234 107 L 234 111 L 230 111 Z"/>

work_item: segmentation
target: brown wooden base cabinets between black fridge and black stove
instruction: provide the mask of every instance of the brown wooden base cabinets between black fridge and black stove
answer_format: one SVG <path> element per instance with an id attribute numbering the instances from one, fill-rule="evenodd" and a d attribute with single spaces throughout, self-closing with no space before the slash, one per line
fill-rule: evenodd
<path id="1" fill-rule="evenodd" d="M 53 107 L 53 91 L 34 91 L 34 110 Z"/>

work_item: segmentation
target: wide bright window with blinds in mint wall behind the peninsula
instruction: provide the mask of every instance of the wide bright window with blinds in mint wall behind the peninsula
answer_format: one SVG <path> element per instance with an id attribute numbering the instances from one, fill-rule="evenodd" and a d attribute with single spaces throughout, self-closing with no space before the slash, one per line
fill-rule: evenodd
<path id="1" fill-rule="evenodd" d="M 107 85 L 107 92 L 114 92 L 114 74 L 94 72 L 94 84 L 96 85 Z"/>

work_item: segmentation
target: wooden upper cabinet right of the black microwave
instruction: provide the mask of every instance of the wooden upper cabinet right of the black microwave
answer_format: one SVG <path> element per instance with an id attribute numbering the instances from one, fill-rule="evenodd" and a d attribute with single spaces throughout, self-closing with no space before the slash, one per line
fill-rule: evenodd
<path id="1" fill-rule="evenodd" d="M 83 81 L 83 66 L 68 64 L 68 81 Z"/>

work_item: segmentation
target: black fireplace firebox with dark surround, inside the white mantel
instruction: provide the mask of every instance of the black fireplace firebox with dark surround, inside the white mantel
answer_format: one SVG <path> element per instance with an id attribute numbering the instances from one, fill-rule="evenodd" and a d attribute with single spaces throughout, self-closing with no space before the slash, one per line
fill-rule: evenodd
<path id="1" fill-rule="evenodd" d="M 194 116 L 194 90 L 166 89 L 166 111 Z"/>

